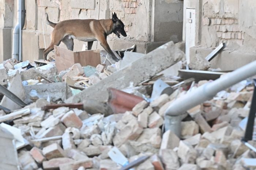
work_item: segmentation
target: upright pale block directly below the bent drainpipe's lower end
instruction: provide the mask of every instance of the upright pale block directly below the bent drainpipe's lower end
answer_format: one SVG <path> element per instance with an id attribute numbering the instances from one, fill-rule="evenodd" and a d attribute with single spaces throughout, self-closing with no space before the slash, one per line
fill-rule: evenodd
<path id="1" fill-rule="evenodd" d="M 172 131 L 168 130 L 163 134 L 160 149 L 174 149 L 178 147 L 180 138 L 176 136 Z"/>

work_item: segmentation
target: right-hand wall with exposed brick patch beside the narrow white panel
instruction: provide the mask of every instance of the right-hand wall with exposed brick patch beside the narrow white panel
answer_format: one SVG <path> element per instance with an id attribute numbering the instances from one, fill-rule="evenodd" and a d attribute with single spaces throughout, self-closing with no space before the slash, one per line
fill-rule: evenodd
<path id="1" fill-rule="evenodd" d="M 186 8 L 195 8 L 197 15 L 196 32 L 198 35 L 195 44 L 198 50 L 193 51 L 200 53 L 200 49 L 208 49 L 210 53 L 223 42 L 227 45 L 223 52 L 236 51 L 236 55 L 241 53 L 242 56 L 249 58 L 253 54 L 256 59 L 255 7 L 255 0 L 185 0 L 184 13 Z M 183 40 L 185 40 L 185 20 L 184 16 Z M 212 66 L 218 67 L 216 62 L 220 61 L 221 59 L 214 59 Z M 234 69 L 234 67 L 227 66 L 222 69 Z"/>

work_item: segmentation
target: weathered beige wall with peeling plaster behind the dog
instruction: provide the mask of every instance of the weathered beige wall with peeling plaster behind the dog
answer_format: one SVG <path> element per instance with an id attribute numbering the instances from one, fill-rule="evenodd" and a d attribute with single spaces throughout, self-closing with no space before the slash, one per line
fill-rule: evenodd
<path id="1" fill-rule="evenodd" d="M 55 23 L 67 19 L 108 19 L 112 17 L 112 12 L 116 12 L 125 24 L 127 37 L 121 36 L 119 39 L 114 34 L 109 35 L 108 43 L 112 49 L 123 49 L 136 44 L 136 50 L 145 53 L 146 43 L 182 40 L 183 1 L 180 0 L 25 0 L 25 4 L 23 61 L 43 59 L 43 50 L 50 44 L 53 28 L 42 23 L 45 12 L 48 13 L 49 20 Z M 7 9 L 12 16 L 3 14 Z M 2 37 L 4 31 L 0 30 L 0 48 L 4 49 L 0 50 L 2 61 L 11 58 L 11 29 L 16 24 L 16 1 L 0 0 L 0 16 L 0 29 L 10 28 L 9 32 L 4 34 L 9 42 Z M 5 26 L 3 20 L 10 24 Z M 74 43 L 74 51 L 80 51 L 85 42 L 74 40 Z M 8 45 L 8 48 L 4 45 Z M 65 47 L 63 43 L 60 46 Z M 103 48 L 95 41 L 93 49 Z M 6 54 L 3 55 L 2 51 Z M 51 52 L 49 55 L 54 54 Z"/>

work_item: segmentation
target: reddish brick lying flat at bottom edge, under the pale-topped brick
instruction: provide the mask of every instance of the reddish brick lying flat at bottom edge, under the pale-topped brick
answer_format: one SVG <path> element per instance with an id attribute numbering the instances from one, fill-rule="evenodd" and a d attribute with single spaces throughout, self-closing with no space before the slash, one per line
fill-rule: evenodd
<path id="1" fill-rule="evenodd" d="M 73 159 L 70 158 L 53 158 L 50 161 L 43 162 L 44 170 L 53 170 L 59 169 L 59 166 L 64 163 L 74 162 Z"/>

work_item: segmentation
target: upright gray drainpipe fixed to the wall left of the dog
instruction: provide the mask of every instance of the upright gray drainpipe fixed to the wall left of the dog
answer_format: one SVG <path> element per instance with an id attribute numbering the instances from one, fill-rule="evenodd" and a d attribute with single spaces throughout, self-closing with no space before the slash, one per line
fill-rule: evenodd
<path id="1" fill-rule="evenodd" d="M 17 24 L 12 36 L 12 58 L 22 61 L 22 28 L 25 24 L 25 0 L 17 1 Z"/>

